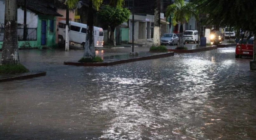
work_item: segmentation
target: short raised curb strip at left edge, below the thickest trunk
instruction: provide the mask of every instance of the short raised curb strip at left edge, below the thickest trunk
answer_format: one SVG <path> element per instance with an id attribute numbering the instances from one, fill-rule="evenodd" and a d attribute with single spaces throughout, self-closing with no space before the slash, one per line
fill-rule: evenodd
<path id="1" fill-rule="evenodd" d="M 12 81 L 12 80 L 22 80 L 28 78 L 34 78 L 39 76 L 45 76 L 46 72 L 28 72 L 19 75 L 7 75 L 7 76 L 0 76 L 0 82 Z"/>

